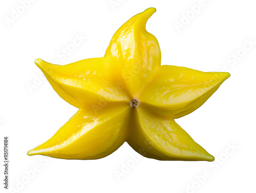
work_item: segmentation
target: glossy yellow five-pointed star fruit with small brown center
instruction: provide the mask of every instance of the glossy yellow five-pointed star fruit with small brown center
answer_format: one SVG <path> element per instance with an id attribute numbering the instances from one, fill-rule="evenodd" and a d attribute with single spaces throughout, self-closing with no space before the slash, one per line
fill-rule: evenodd
<path id="1" fill-rule="evenodd" d="M 104 57 L 64 66 L 35 60 L 57 94 L 79 110 L 28 155 L 99 159 L 126 141 L 147 158 L 214 161 L 174 119 L 198 109 L 230 75 L 161 66 L 158 41 L 145 29 L 155 11 L 122 25 Z"/>

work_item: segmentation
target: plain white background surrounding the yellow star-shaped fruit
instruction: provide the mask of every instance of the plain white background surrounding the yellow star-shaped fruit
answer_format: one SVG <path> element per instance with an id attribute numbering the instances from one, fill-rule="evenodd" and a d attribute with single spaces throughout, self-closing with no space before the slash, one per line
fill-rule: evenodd
<path id="1" fill-rule="evenodd" d="M 1 1 L 0 145 L 9 136 L 11 192 L 254 191 L 256 4 L 252 0 L 205 0 L 204 7 L 193 14 L 190 6 L 199 4 L 58 0 L 34 1 L 22 8 L 20 1 Z M 162 65 L 231 74 L 201 108 L 177 120 L 216 161 L 147 159 L 127 143 L 112 155 L 92 161 L 27 156 L 29 149 L 48 140 L 77 111 L 55 93 L 34 60 L 66 65 L 101 57 L 114 32 L 149 7 L 157 12 L 146 28 L 159 41 Z M 20 14 L 13 15 L 17 9 Z M 187 14 L 189 22 L 183 18 Z M 10 19 L 11 23 L 6 22 Z M 178 23 L 183 25 L 179 30 Z M 60 57 L 76 36 L 83 37 L 80 45 L 66 58 Z M 245 51 L 247 41 L 254 45 L 246 45 Z M 232 53 L 239 58 L 230 62 Z M 127 162 L 130 166 L 124 173 Z M 3 170 L 1 166 L 1 192 L 6 191 Z M 115 171 L 123 176 L 117 178 Z M 202 177 L 205 172 L 209 174 Z"/>

